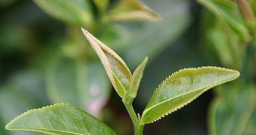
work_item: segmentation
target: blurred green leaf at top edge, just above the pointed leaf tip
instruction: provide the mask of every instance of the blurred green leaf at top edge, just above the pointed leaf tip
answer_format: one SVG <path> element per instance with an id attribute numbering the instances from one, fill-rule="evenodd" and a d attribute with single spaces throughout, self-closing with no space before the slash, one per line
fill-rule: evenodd
<path id="1" fill-rule="evenodd" d="M 71 24 L 90 28 L 93 14 L 89 0 L 33 0 L 49 15 Z"/>

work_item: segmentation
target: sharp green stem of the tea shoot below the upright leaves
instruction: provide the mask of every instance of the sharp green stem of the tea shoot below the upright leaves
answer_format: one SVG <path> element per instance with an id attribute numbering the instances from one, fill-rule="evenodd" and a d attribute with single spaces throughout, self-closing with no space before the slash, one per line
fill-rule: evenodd
<path id="1" fill-rule="evenodd" d="M 143 134 L 143 128 L 144 124 L 139 123 L 139 119 L 133 109 L 133 98 L 129 98 L 129 96 L 126 99 L 122 99 L 123 104 L 129 113 L 132 122 L 133 122 L 133 127 L 134 127 L 134 134 L 135 135 L 142 135 Z"/>

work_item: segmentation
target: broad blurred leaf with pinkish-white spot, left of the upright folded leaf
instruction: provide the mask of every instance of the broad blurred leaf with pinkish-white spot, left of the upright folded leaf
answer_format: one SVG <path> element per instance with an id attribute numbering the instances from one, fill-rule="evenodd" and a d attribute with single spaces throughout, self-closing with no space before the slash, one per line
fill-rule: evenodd
<path id="1" fill-rule="evenodd" d="M 47 70 L 47 92 L 53 103 L 68 102 L 94 116 L 110 95 L 108 77 L 99 62 L 56 57 Z"/>

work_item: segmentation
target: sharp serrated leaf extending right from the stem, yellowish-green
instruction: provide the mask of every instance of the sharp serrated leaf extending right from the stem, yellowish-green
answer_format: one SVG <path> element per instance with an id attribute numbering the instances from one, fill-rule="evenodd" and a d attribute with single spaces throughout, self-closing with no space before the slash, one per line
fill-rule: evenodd
<path id="1" fill-rule="evenodd" d="M 177 111 L 203 92 L 239 77 L 236 70 L 220 67 L 188 68 L 173 73 L 159 85 L 141 121 L 151 123 Z"/>

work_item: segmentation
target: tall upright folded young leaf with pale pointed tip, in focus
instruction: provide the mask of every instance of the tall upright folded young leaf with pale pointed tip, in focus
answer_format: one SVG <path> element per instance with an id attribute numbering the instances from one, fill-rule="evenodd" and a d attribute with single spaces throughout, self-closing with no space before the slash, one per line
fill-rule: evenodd
<path id="1" fill-rule="evenodd" d="M 88 31 L 82 29 L 82 32 L 97 53 L 116 92 L 120 97 L 125 98 L 127 93 L 130 93 L 131 71 L 115 51 Z"/>

